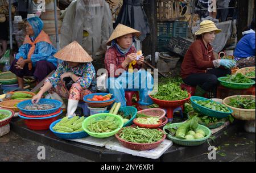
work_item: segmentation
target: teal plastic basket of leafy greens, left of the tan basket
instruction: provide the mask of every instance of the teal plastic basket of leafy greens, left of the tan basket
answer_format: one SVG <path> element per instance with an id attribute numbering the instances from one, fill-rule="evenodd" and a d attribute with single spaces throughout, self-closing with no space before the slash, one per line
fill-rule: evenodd
<path id="1" fill-rule="evenodd" d="M 197 104 L 195 102 L 195 100 L 196 101 L 199 101 L 199 100 L 209 100 L 207 98 L 202 98 L 200 96 L 192 96 L 190 98 L 190 100 L 191 100 L 191 105 L 192 105 L 193 109 L 195 111 L 203 114 L 203 115 L 207 115 L 207 116 L 211 116 L 211 117 L 216 117 L 216 118 L 222 119 L 222 118 L 228 117 L 231 113 L 233 113 L 233 110 L 230 109 L 229 107 L 228 107 L 228 109 L 229 109 L 230 112 L 220 112 L 220 111 L 214 111 L 213 109 L 209 109 L 209 108 L 203 107 L 200 104 Z M 210 102 L 214 102 L 214 101 L 210 100 Z M 215 103 L 220 104 L 218 102 L 215 102 Z"/>

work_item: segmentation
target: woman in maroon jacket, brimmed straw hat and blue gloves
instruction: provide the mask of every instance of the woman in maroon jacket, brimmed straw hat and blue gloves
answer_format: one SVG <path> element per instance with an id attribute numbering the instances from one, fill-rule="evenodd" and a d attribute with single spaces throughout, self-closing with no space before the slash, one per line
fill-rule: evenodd
<path id="1" fill-rule="evenodd" d="M 196 41 L 189 47 L 181 64 L 181 78 L 190 86 L 196 86 L 195 95 L 204 96 L 217 86 L 217 78 L 231 74 L 231 68 L 236 65 L 231 60 L 215 59 L 210 45 L 217 33 L 221 32 L 210 20 L 200 23 L 200 29 L 195 33 Z"/>

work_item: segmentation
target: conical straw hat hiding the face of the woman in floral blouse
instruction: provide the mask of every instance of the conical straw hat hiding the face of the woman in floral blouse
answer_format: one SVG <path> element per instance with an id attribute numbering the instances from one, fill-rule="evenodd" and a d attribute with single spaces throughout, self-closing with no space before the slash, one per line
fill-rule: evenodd
<path id="1" fill-rule="evenodd" d="M 56 58 L 71 62 L 92 62 L 92 57 L 81 47 L 79 43 L 73 41 L 63 49 L 54 54 Z"/>

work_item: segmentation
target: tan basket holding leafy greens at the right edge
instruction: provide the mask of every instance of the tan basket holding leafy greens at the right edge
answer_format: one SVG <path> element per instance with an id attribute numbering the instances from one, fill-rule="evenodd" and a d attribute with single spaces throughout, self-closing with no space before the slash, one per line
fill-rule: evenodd
<path id="1" fill-rule="evenodd" d="M 228 105 L 230 102 L 230 98 L 236 98 L 237 96 L 241 96 L 242 98 L 252 98 L 255 100 L 255 95 L 233 95 L 225 98 L 223 100 L 223 104 L 233 110 L 232 115 L 236 119 L 247 121 L 255 120 L 255 109 L 240 109 Z"/>

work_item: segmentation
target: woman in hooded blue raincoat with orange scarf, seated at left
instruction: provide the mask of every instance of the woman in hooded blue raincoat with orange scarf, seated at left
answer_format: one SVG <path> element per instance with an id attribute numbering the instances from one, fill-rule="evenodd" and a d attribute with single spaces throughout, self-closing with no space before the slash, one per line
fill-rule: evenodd
<path id="1" fill-rule="evenodd" d="M 52 70 L 56 70 L 57 59 L 47 33 L 43 30 L 43 21 L 38 17 L 26 22 L 26 37 L 19 48 L 10 71 L 16 74 L 19 87 L 23 87 L 23 76 L 34 76 L 37 82 L 43 81 Z"/>

